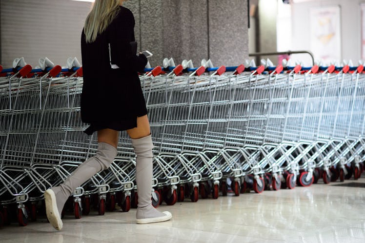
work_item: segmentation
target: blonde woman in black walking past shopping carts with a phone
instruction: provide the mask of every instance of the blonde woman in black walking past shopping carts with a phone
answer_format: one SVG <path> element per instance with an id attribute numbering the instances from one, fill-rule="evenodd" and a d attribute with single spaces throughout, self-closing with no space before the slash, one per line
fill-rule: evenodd
<path id="1" fill-rule="evenodd" d="M 44 193 L 46 213 L 61 230 L 61 211 L 74 189 L 97 172 L 109 168 L 117 155 L 119 131 L 126 130 L 136 154 L 138 187 L 137 223 L 170 220 L 170 212 L 152 206 L 153 143 L 147 109 L 137 72 L 147 59 L 131 47 L 134 17 L 122 7 L 123 0 L 95 0 L 81 34 L 83 87 L 81 119 L 90 123 L 85 133 L 98 134 L 98 150 L 60 186 Z"/>

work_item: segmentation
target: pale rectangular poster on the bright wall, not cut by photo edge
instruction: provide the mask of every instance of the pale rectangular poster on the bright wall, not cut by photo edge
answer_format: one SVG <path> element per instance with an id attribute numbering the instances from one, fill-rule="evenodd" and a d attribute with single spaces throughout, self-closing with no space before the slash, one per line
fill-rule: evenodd
<path id="1" fill-rule="evenodd" d="M 341 61 L 340 6 L 310 9 L 310 48 L 316 59 Z"/>

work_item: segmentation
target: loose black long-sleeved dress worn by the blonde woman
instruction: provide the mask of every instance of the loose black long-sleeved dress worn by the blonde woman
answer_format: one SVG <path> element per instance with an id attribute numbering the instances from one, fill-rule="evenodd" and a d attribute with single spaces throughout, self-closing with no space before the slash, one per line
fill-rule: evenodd
<path id="1" fill-rule="evenodd" d="M 104 128 L 122 131 L 136 127 L 137 117 L 147 114 L 137 73 L 147 59 L 132 52 L 134 25 L 132 12 L 121 6 L 118 16 L 96 41 L 86 43 L 82 31 L 81 120 L 90 123 L 85 130 L 89 135 Z M 109 44 L 112 64 L 119 69 L 110 66 Z"/>

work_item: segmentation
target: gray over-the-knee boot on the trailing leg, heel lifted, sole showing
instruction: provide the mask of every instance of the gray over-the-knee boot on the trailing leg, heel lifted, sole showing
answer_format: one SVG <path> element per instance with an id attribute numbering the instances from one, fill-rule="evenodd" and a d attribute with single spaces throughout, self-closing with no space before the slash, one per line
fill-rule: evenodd
<path id="1" fill-rule="evenodd" d="M 55 229 L 61 230 L 62 228 L 61 212 L 68 197 L 93 175 L 109 168 L 116 155 L 117 149 L 114 146 L 106 142 L 99 142 L 95 156 L 79 165 L 61 185 L 45 191 L 47 218 Z"/>

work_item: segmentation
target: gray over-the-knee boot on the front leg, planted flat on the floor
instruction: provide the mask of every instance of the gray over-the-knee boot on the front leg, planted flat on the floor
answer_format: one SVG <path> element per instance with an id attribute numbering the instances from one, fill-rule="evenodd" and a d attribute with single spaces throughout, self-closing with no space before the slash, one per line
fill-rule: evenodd
<path id="1" fill-rule="evenodd" d="M 137 223 L 157 223 L 172 218 L 170 212 L 160 212 L 152 206 L 152 158 L 151 135 L 141 139 L 131 139 L 136 153 L 136 181 L 138 191 Z"/>

